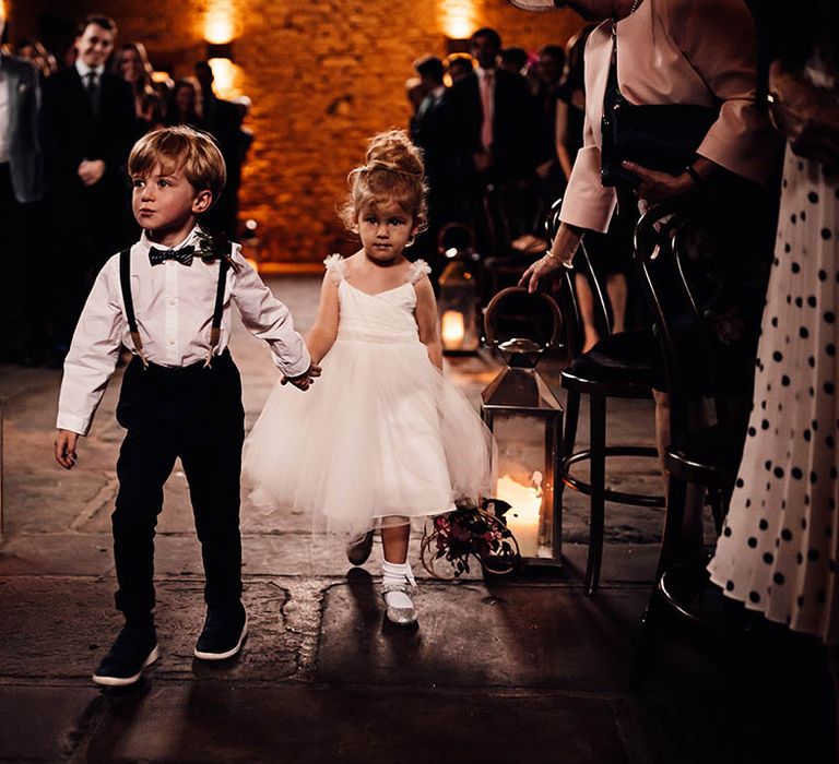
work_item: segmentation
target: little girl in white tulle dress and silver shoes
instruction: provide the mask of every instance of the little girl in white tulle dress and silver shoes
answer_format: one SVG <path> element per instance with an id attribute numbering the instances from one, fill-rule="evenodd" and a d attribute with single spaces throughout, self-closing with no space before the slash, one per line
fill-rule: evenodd
<path id="1" fill-rule="evenodd" d="M 401 131 L 374 136 L 350 187 L 341 215 L 362 249 L 326 259 L 306 338 L 323 375 L 306 395 L 274 389 L 245 473 L 258 505 L 307 510 L 328 532 L 347 534 L 354 564 L 366 561 L 380 528 L 386 614 L 410 625 L 411 520 L 486 494 L 493 438 L 442 378 L 430 268 L 404 255 L 426 220 L 420 151 Z"/>

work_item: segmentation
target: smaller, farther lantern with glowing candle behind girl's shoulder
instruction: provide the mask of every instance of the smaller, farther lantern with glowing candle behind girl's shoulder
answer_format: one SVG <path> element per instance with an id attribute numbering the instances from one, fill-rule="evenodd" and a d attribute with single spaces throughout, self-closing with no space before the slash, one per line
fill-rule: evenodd
<path id="1" fill-rule="evenodd" d="M 477 285 L 470 271 L 474 256 L 474 235 L 462 223 L 450 223 L 440 230 L 438 252 L 449 263 L 438 279 L 437 310 L 440 341 L 447 356 L 477 351 Z"/>

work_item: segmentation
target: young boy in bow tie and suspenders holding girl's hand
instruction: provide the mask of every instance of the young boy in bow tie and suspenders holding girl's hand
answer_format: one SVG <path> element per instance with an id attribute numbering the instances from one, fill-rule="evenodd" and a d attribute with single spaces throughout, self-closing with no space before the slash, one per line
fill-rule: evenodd
<path id="1" fill-rule="evenodd" d="M 93 675 L 109 687 L 135 682 L 158 655 L 154 528 L 176 457 L 189 482 L 206 576 L 206 619 L 196 657 L 229 658 L 247 634 L 239 537 L 245 422 L 239 373 L 226 349 L 231 303 L 269 344 L 288 382 L 306 390 L 320 373 L 287 308 L 239 248 L 215 246 L 197 227 L 225 182 L 224 159 L 212 139 L 185 127 L 157 130 L 138 141 L 128 169 L 143 234 L 105 264 L 87 298 L 64 361 L 55 443 L 56 459 L 71 469 L 78 438 L 90 430 L 120 347 L 129 347 L 134 357 L 117 406 L 128 432 L 111 517 L 116 604 L 126 625 Z"/>

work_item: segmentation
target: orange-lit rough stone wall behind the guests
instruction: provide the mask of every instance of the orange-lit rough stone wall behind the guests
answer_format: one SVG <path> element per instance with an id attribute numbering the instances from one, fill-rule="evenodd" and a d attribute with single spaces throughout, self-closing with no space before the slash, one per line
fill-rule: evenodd
<path id="1" fill-rule="evenodd" d="M 423 53 L 442 57 L 445 34 L 496 27 L 505 45 L 565 43 L 579 26 L 568 12 L 518 11 L 506 0 L 7 0 L 14 36 L 36 34 L 47 15 L 114 16 L 121 39 L 146 44 L 153 63 L 189 73 L 204 55 L 208 19 L 229 22 L 232 91 L 253 106 L 256 134 L 243 217 L 259 224 L 261 256 L 321 260 L 351 244 L 334 215 L 365 139 L 407 122 L 404 82 Z M 223 40 L 220 40 L 223 41 Z"/>

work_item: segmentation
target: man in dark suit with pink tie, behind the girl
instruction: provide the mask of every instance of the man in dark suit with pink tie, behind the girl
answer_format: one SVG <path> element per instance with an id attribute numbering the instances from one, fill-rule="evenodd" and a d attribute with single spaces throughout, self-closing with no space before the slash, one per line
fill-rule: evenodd
<path id="1" fill-rule="evenodd" d="M 524 77 L 498 68 L 500 49 L 495 29 L 475 32 L 472 55 L 478 65 L 452 84 L 442 106 L 464 217 L 478 229 L 486 187 L 532 179 L 541 158 L 541 115 Z"/>

